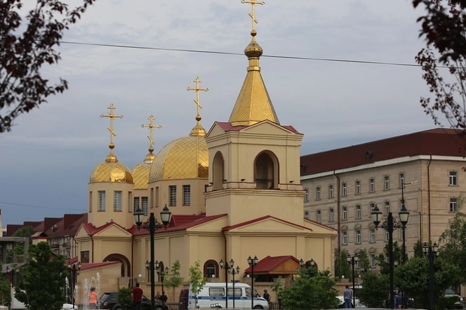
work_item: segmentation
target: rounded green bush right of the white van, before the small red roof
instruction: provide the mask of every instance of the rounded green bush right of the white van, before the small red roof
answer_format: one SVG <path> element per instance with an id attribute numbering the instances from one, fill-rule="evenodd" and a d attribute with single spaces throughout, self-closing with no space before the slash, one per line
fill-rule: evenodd
<path id="1" fill-rule="evenodd" d="M 335 281 L 329 271 L 319 272 L 314 267 L 300 270 L 292 286 L 280 294 L 282 305 L 287 310 L 335 309 L 338 306 Z"/>

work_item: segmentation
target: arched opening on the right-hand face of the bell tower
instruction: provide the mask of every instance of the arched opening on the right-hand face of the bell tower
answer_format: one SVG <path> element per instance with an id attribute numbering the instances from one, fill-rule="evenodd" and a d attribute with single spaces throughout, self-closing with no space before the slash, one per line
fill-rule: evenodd
<path id="1" fill-rule="evenodd" d="M 270 151 L 260 153 L 254 162 L 256 188 L 278 188 L 278 159 Z"/>

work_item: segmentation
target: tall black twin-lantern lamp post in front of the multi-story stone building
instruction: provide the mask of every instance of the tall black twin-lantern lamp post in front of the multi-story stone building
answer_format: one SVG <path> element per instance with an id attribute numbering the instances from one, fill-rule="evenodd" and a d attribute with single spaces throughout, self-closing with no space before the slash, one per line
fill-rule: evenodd
<path id="1" fill-rule="evenodd" d="M 372 221 L 375 224 L 376 229 L 379 228 L 379 224 L 382 220 L 382 212 L 379 210 L 377 205 L 374 207 L 372 212 L 370 213 L 372 216 Z M 408 223 L 409 212 L 408 210 L 400 210 L 399 211 L 399 219 L 401 223 L 406 225 Z M 389 260 L 389 270 L 390 270 L 390 309 L 395 308 L 395 295 L 394 295 L 394 259 L 393 259 L 393 231 L 400 227 L 399 223 L 393 218 L 393 214 L 391 212 L 388 213 L 388 217 L 382 223 L 381 227 L 385 229 L 388 233 L 388 260 Z"/>

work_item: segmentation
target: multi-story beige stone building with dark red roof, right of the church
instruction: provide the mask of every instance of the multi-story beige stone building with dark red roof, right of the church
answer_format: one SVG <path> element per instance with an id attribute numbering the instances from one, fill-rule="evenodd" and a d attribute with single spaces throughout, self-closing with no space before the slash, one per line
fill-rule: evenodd
<path id="1" fill-rule="evenodd" d="M 375 228 L 371 210 L 377 205 L 399 220 L 404 194 L 410 256 L 417 240 L 438 242 L 458 210 L 465 156 L 464 140 L 440 128 L 301 156 L 304 216 L 338 230 L 336 252 L 366 248 L 375 267 L 388 234 Z M 401 231 L 393 238 L 401 244 Z"/>

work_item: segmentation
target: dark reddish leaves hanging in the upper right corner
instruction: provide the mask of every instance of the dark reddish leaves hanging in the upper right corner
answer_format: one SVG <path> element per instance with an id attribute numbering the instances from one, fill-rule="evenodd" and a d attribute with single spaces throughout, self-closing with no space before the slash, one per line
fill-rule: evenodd
<path id="1" fill-rule="evenodd" d="M 466 133 L 466 1 L 464 0 L 412 0 L 416 8 L 422 4 L 425 15 L 417 22 L 421 24 L 419 37 L 426 40 L 426 47 L 416 56 L 422 67 L 422 78 L 426 81 L 431 98 L 421 98 L 424 112 L 431 116 L 436 125 L 441 125 L 439 116 L 449 122 L 450 127 Z M 439 56 L 437 61 L 436 55 Z M 438 63 L 446 66 L 450 76 L 447 81 L 439 71 Z"/>

